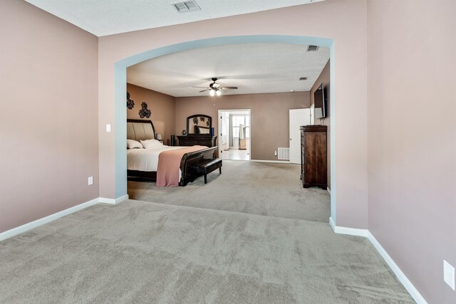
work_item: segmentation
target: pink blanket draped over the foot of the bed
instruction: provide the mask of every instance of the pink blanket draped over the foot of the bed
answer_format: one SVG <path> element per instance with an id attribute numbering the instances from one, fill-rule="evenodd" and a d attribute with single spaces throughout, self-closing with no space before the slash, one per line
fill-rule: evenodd
<path id="1" fill-rule="evenodd" d="M 206 149 L 204 146 L 182 147 L 163 151 L 158 155 L 157 187 L 179 186 L 180 161 L 185 153 Z"/>

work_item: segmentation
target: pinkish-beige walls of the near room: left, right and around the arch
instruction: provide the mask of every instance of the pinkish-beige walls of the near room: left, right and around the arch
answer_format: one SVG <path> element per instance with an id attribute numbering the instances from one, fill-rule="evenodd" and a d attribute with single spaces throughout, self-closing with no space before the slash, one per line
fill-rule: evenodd
<path id="1" fill-rule="evenodd" d="M 0 231 L 115 198 L 116 62 L 219 36 L 327 37 L 336 224 L 368 228 L 429 303 L 455 303 L 442 281 L 442 260 L 456 266 L 455 11 L 455 1 L 327 0 L 102 37 L 97 83 L 97 38 L 0 1 Z"/>

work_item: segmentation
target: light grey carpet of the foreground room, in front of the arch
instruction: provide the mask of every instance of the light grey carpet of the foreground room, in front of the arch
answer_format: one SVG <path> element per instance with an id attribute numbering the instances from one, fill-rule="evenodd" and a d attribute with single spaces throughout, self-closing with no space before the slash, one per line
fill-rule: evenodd
<path id="1" fill-rule="evenodd" d="M 328 224 L 128 200 L 0 242 L 0 303 L 411 303 Z"/>

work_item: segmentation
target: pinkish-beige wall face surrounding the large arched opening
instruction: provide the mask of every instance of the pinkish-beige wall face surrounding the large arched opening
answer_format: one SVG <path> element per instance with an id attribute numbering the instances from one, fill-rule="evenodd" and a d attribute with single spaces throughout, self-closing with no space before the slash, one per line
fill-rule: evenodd
<path id="1" fill-rule="evenodd" d="M 117 127 L 121 127 L 121 134 L 124 128 L 123 117 L 120 117 L 120 112 L 116 113 L 113 103 L 113 100 L 116 100 L 116 63 L 146 51 L 207 38 L 246 35 L 325 37 L 333 39 L 333 56 L 336 58 L 335 61 L 331 61 L 335 71 L 334 75 L 331 75 L 334 78 L 331 85 L 334 96 L 337 97 L 332 98 L 335 111 L 331 111 L 332 117 L 337 115 L 336 124 L 331 125 L 332 130 L 337 130 L 334 145 L 331 146 L 335 152 L 335 162 L 331 164 L 336 168 L 337 175 L 334 176 L 336 183 L 331 183 L 333 216 L 338 226 L 368 228 L 366 18 L 366 1 L 328 0 L 255 14 L 100 37 L 100 196 L 115 198 L 123 195 L 116 193 L 116 177 L 118 181 L 122 181 L 125 175 L 123 172 L 117 172 L 116 175 L 115 170 L 116 145 L 118 155 L 122 155 L 122 145 L 116 142 L 115 132 Z M 278 26 L 271 20 L 281 22 Z M 324 22 L 321 22 L 322 20 Z M 123 95 L 122 90 L 118 93 L 118 96 L 120 95 Z M 358 118 L 353 120 L 353 116 Z M 115 125 L 116 120 L 119 126 Z M 107 123 L 113 124 L 113 132 L 103 131 Z"/>

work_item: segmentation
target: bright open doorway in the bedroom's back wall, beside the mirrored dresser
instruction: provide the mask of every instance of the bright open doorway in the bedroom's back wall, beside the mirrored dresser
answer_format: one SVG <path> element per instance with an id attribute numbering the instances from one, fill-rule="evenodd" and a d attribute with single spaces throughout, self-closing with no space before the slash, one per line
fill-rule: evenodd
<path id="1" fill-rule="evenodd" d="M 220 158 L 250 160 L 250 116 L 250 109 L 219 110 Z"/>

